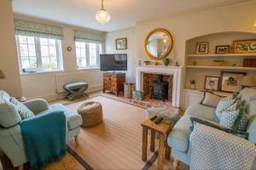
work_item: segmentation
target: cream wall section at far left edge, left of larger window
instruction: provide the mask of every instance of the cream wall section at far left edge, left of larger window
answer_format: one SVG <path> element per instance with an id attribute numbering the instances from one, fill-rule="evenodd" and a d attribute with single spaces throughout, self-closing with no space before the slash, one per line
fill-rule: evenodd
<path id="1" fill-rule="evenodd" d="M 14 14 L 9 0 L 0 1 L 0 69 L 6 76 L 0 79 L 0 89 L 20 97 L 21 84 L 15 46 Z"/>

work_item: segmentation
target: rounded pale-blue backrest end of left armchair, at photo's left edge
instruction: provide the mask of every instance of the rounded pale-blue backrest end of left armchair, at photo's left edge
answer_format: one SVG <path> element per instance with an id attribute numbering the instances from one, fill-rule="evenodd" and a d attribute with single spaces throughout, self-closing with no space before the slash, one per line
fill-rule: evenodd
<path id="1" fill-rule="evenodd" d="M 1 127 L 14 127 L 21 121 L 15 105 L 12 103 L 0 104 L 0 126 Z"/>

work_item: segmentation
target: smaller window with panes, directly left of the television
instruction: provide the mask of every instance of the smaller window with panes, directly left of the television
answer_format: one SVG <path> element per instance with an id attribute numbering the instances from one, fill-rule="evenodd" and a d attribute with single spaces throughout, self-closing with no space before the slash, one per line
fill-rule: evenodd
<path id="1" fill-rule="evenodd" d="M 78 68 L 99 67 L 102 42 L 76 42 Z"/>

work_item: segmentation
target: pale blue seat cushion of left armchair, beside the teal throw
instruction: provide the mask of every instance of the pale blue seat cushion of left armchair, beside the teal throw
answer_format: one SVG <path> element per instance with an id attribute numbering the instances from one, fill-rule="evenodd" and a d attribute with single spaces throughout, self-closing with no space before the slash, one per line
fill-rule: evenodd
<path id="1" fill-rule="evenodd" d="M 68 130 L 73 130 L 82 125 L 81 116 L 77 112 L 68 109 L 64 105 L 61 105 L 61 104 L 51 105 L 48 111 L 51 111 L 51 110 L 61 110 L 64 112 L 66 116 Z"/>

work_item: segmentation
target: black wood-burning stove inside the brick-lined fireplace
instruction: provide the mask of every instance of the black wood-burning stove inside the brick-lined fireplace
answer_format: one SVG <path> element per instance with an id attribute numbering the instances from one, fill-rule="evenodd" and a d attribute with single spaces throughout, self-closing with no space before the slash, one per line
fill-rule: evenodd
<path id="1" fill-rule="evenodd" d="M 159 75 L 157 81 L 153 81 L 151 84 L 151 99 L 168 99 L 168 82 L 163 81 L 163 76 Z"/>

